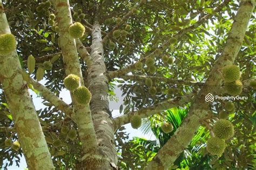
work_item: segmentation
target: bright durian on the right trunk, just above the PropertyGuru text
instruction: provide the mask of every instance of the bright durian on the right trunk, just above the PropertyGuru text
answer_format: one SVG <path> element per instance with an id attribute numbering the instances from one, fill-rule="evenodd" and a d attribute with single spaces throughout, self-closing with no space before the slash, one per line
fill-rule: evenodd
<path id="1" fill-rule="evenodd" d="M 240 68 L 237 65 L 227 65 L 223 68 L 223 78 L 226 83 L 231 83 L 235 80 L 240 79 L 241 73 Z"/>

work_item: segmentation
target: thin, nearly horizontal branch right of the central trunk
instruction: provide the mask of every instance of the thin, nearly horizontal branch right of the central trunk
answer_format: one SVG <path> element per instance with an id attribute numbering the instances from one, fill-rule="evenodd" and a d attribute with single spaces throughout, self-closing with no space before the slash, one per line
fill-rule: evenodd
<path id="1" fill-rule="evenodd" d="M 147 78 L 151 78 L 152 81 L 163 81 L 167 84 L 185 84 L 185 85 L 204 85 L 203 82 L 195 82 L 195 81 L 188 81 L 188 80 L 177 80 L 172 78 L 166 78 L 166 77 L 157 77 L 157 76 L 139 76 L 139 75 L 124 75 L 120 76 L 119 78 L 123 78 L 125 80 L 142 80 L 145 81 Z"/>

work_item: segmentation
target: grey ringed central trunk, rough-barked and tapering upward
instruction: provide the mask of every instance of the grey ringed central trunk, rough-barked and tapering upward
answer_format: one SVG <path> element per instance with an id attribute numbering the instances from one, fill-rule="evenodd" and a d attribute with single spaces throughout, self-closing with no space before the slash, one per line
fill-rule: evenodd
<path id="1" fill-rule="evenodd" d="M 114 145 L 114 127 L 109 111 L 109 101 L 102 100 L 107 96 L 109 80 L 105 76 L 106 66 L 103 57 L 102 35 L 99 24 L 95 22 L 92 30 L 91 59 L 92 65 L 87 72 L 87 85 L 92 93 L 91 112 L 96 136 L 103 158 L 101 165 L 95 169 L 111 169 L 117 165 L 117 153 Z"/>

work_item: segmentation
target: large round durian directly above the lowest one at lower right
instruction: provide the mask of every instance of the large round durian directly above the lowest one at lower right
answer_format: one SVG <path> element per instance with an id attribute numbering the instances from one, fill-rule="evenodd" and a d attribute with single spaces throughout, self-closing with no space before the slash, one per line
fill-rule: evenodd
<path id="1" fill-rule="evenodd" d="M 230 121 L 220 119 L 214 124 L 213 133 L 220 139 L 229 139 L 234 135 L 234 126 Z"/>

